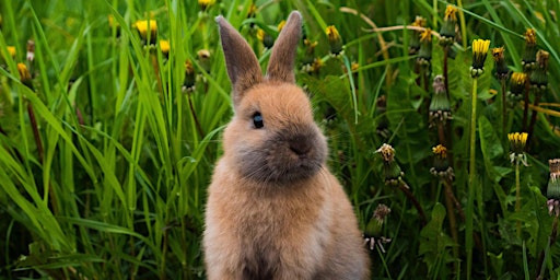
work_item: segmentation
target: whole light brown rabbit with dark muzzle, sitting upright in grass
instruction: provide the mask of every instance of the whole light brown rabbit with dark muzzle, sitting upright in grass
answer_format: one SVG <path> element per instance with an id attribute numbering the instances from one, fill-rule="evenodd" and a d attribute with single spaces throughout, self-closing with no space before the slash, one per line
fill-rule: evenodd
<path id="1" fill-rule="evenodd" d="M 290 14 L 266 77 L 241 34 L 217 22 L 235 115 L 209 187 L 208 279 L 368 279 L 352 206 L 325 166 L 326 139 L 295 85 L 301 14 Z"/>

